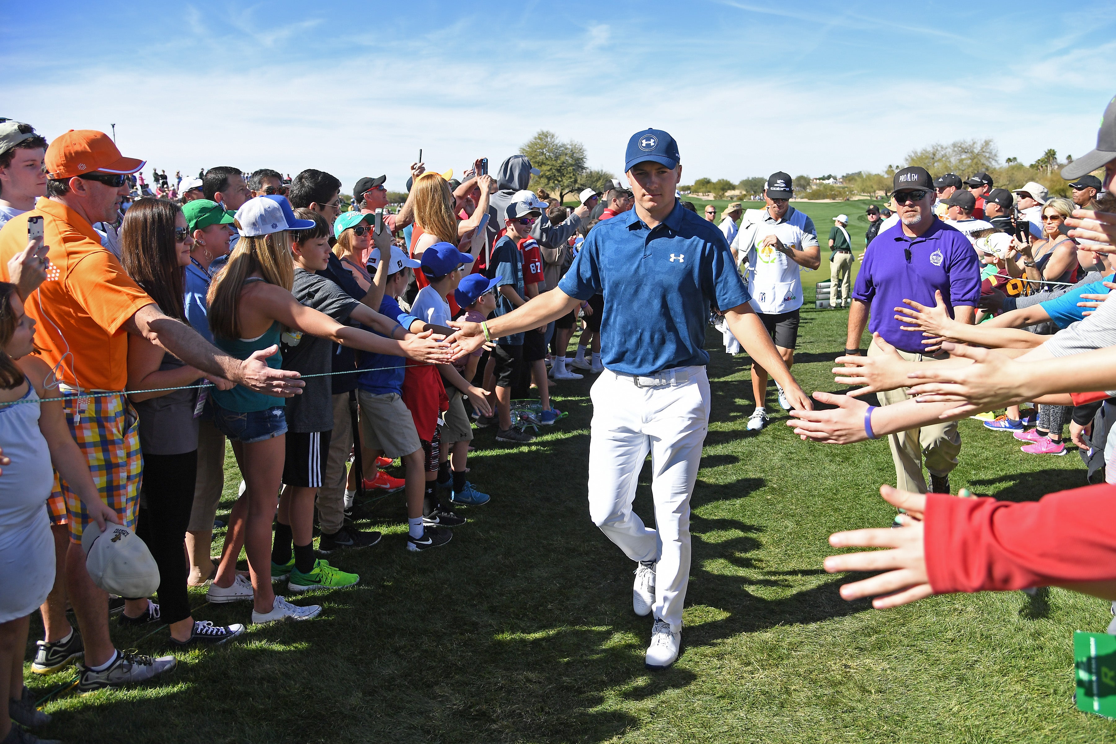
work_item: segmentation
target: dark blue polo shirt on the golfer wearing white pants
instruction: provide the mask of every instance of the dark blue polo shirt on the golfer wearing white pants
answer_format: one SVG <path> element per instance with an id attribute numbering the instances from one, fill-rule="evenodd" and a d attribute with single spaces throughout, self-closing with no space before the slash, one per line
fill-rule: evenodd
<path id="1" fill-rule="evenodd" d="M 626 375 L 709 364 L 710 302 L 729 310 L 751 299 L 724 235 L 677 201 L 653 230 L 635 210 L 598 222 L 558 288 L 605 296 L 600 360 Z"/>

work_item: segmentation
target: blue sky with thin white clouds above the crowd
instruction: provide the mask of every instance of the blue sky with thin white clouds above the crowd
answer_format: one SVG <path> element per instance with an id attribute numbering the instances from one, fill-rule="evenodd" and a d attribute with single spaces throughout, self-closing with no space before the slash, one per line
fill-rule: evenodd
<path id="1" fill-rule="evenodd" d="M 686 183 L 879 171 L 968 137 L 1031 162 L 1095 145 L 1114 31 L 1110 1 L 0 0 L 0 116 L 48 138 L 116 123 L 171 173 L 317 167 L 345 191 L 401 189 L 420 147 L 494 168 L 540 128 L 616 173 L 632 133 L 666 129 Z"/>

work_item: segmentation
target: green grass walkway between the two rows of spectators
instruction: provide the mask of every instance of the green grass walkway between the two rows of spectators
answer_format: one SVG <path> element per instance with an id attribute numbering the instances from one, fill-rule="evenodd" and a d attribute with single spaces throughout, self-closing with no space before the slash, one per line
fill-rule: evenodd
<path id="1" fill-rule="evenodd" d="M 804 309 L 795 370 L 807 389 L 836 389 L 828 369 L 845 317 Z M 633 566 L 588 518 L 586 379 L 558 388 L 570 416 L 529 446 L 478 433 L 470 479 L 492 502 L 462 510 L 470 523 L 446 548 L 406 552 L 402 496 L 385 499 L 366 525 L 386 533 L 381 544 L 331 559 L 360 584 L 296 600 L 323 603 L 318 619 L 250 627 L 240 642 L 181 655 L 146 687 L 62 696 L 41 733 L 114 744 L 1116 741 L 1114 724 L 1070 699 L 1071 634 L 1103 631 L 1107 602 L 1057 589 L 888 611 L 841 600 L 845 579 L 820 569 L 826 539 L 891 522 L 877 494 L 894 479 L 887 444 L 802 443 L 782 415 L 745 433 L 745 359 L 715 340 L 683 655 L 671 669 L 644 669 L 651 620 L 631 610 Z M 979 422 L 961 429 L 954 491 L 1028 500 L 1084 483 L 1074 452 L 1028 456 Z M 238 481 L 230 468 L 229 497 Z M 636 511 L 650 506 L 645 471 Z M 247 624 L 249 611 L 204 606 L 196 617 Z M 165 630 L 113 632 L 121 647 L 166 653 Z M 28 682 L 42 695 L 71 676 Z"/>

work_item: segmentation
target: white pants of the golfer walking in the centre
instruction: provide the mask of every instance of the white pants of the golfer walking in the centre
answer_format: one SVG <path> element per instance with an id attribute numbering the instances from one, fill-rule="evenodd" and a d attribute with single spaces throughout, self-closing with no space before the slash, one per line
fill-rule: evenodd
<path id="1" fill-rule="evenodd" d="M 705 367 L 683 367 L 676 385 L 637 387 L 605 369 L 593 384 L 589 515 L 634 561 L 657 561 L 653 613 L 682 629 L 690 581 L 690 494 L 709 431 Z M 651 452 L 655 525 L 632 512 L 639 471 Z"/>

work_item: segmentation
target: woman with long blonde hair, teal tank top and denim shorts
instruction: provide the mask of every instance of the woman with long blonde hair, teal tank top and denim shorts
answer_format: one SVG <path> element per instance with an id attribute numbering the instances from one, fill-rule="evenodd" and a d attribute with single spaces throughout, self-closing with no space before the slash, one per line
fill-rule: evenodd
<path id="1" fill-rule="evenodd" d="M 431 341 L 423 334 L 405 341 L 376 336 L 358 328 L 344 326 L 328 315 L 299 305 L 291 294 L 295 263 L 291 258 L 290 230 L 310 230 L 316 223 L 295 216 L 283 196 L 257 196 L 244 202 L 237 212 L 240 240 L 228 265 L 213 279 L 209 291 L 209 321 L 213 342 L 232 356 L 247 359 L 252 355 L 267 358 L 270 367 L 279 367 L 280 336 L 289 332 L 288 344 L 298 342 L 299 334 L 327 338 L 336 344 L 376 354 L 407 356 L 423 361 L 444 361 L 448 347 Z M 307 395 L 324 394 L 324 406 L 330 406 L 329 387 L 307 387 Z M 232 441 L 233 453 L 247 485 L 232 509 L 230 535 L 218 567 L 214 586 L 222 590 L 224 601 L 252 599 L 253 622 L 270 622 L 290 618 L 315 617 L 320 607 L 296 607 L 271 590 L 271 522 L 276 515 L 276 494 L 282 480 L 286 457 L 287 418 L 282 398 L 271 397 L 248 388 L 214 390 L 214 423 Z M 309 402 L 300 402 L 310 405 Z M 312 529 L 314 503 L 287 504 L 292 516 L 289 525 L 295 535 L 295 566 L 279 567 L 300 574 L 314 576 L 321 584 L 334 581 L 340 573 L 326 561 L 315 561 L 307 535 Z M 298 519 L 298 524 L 294 521 Z M 302 522 L 307 522 L 302 524 Z M 305 529 L 304 529 L 305 528 Z M 248 553 L 251 587 L 237 579 L 237 558 L 241 543 Z M 292 571 L 291 571 L 292 572 Z M 240 587 L 238 591 L 234 584 Z"/>

